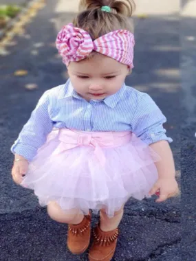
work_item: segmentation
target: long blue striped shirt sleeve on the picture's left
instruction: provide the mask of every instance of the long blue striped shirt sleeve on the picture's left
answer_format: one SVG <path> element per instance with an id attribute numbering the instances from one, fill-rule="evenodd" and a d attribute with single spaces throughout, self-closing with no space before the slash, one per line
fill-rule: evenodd
<path id="1" fill-rule="evenodd" d="M 30 120 L 23 126 L 18 139 L 11 148 L 14 154 L 17 153 L 28 161 L 34 158 L 37 150 L 45 143 L 47 134 L 52 131 L 53 124 L 48 113 L 48 92 L 45 91 L 42 95 Z"/>

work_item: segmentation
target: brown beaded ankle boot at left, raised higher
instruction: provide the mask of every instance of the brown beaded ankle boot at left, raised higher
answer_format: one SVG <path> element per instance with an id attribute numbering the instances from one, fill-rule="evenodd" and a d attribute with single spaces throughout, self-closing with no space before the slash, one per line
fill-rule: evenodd
<path id="1" fill-rule="evenodd" d="M 84 253 L 89 247 L 91 237 L 91 215 L 85 216 L 78 225 L 69 225 L 67 247 L 74 255 Z"/>

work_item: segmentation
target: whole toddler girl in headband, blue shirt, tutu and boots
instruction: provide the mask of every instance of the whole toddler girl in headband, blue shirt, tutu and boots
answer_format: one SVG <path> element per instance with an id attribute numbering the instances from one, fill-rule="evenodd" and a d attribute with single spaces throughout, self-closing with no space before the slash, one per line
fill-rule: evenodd
<path id="1" fill-rule="evenodd" d="M 111 260 L 129 198 L 178 191 L 166 117 L 124 84 L 135 44 L 129 0 L 81 0 L 56 47 L 69 80 L 46 91 L 12 146 L 14 181 L 34 190 L 51 218 L 67 223 L 74 254 L 89 247 L 91 212 L 100 212 L 89 260 Z"/>

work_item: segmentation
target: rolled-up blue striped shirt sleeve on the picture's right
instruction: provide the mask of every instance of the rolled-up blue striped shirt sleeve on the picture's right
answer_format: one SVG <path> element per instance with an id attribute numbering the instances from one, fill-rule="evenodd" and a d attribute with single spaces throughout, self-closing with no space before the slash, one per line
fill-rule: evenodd
<path id="1" fill-rule="evenodd" d="M 131 122 L 133 133 L 148 145 L 162 140 L 172 142 L 173 140 L 166 136 L 166 130 L 163 127 L 165 122 L 166 117 L 152 98 L 142 93 L 138 98 L 138 106 Z"/>

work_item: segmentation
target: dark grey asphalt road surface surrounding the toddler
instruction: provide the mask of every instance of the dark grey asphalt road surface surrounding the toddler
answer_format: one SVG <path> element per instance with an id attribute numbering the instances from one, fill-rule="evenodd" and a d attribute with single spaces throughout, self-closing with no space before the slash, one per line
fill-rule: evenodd
<path id="1" fill-rule="evenodd" d="M 46 90 L 66 80 L 65 67 L 53 45 L 56 29 L 74 14 L 55 13 L 56 3 L 47 5 L 26 25 L 25 34 L 16 36 L 17 45 L 0 65 L 0 260 L 71 261 L 87 260 L 67 251 L 67 226 L 47 217 L 30 190 L 14 185 L 10 177 L 10 146 L 17 138 L 32 109 Z M 135 18 L 135 69 L 127 84 L 149 93 L 166 115 L 166 129 L 173 138 L 178 181 L 182 169 L 182 207 L 179 198 L 155 204 L 154 198 L 129 201 L 120 225 L 121 236 L 113 260 L 192 261 L 195 260 L 195 21 L 177 16 Z M 182 32 L 183 28 L 183 32 Z M 185 35 L 186 34 L 186 35 Z M 181 43 L 184 49 L 181 50 Z M 36 52 L 34 52 L 36 51 Z M 194 56 L 192 54 L 194 53 Z M 182 57 L 182 59 L 181 59 Z M 182 79 L 179 69 L 182 62 Z M 28 70 L 16 77 L 14 71 Z M 191 73 L 190 73 L 191 71 Z M 28 91 L 25 84 L 38 89 Z M 191 99 L 191 104 L 190 104 Z M 194 129 L 195 128 L 195 129 Z M 182 218 L 180 213 L 182 209 Z M 96 223 L 98 217 L 94 217 Z M 180 223 L 180 221 L 182 221 Z M 181 236 L 183 238 L 180 244 Z M 183 248 L 182 248 L 183 247 Z M 182 251 L 180 252 L 180 249 Z"/>

